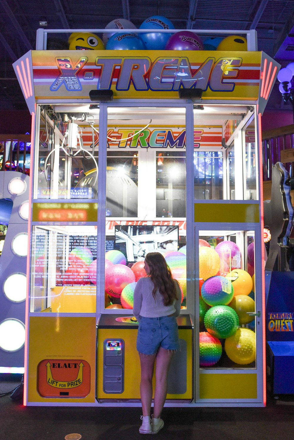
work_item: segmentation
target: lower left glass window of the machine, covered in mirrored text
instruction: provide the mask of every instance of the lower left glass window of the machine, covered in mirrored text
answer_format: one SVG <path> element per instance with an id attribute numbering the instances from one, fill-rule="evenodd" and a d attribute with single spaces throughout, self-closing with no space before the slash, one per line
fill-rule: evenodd
<path id="1" fill-rule="evenodd" d="M 95 226 L 33 227 L 32 255 L 32 312 L 95 312 Z"/>

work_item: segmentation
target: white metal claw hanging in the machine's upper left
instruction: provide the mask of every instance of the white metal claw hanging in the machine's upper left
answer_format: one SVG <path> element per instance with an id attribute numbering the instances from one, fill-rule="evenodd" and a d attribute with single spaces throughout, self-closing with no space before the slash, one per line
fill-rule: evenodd
<path id="1" fill-rule="evenodd" d="M 50 153 L 48 154 L 45 163 L 44 163 L 44 175 L 46 180 L 48 180 L 48 175 L 46 172 L 47 169 L 47 164 L 48 164 L 48 159 L 51 156 L 52 153 L 54 153 L 55 150 L 63 150 L 66 154 L 66 156 L 68 158 L 70 158 L 70 172 L 68 173 L 68 182 L 67 182 L 67 187 L 70 188 L 70 179 L 71 179 L 71 159 L 76 157 L 77 154 L 81 153 L 83 155 L 83 157 L 87 160 L 90 160 L 91 158 L 93 159 L 95 166 L 96 166 L 96 178 L 94 181 L 94 185 L 97 182 L 98 179 L 98 165 L 96 162 L 96 159 L 94 158 L 94 139 L 93 139 L 93 150 L 91 154 L 88 150 L 85 150 L 83 147 L 83 138 L 82 138 L 82 130 L 81 127 L 79 127 L 74 120 L 76 120 L 77 118 L 74 117 L 74 115 L 71 115 L 71 122 L 68 123 L 68 127 L 66 129 L 65 135 L 63 137 L 62 140 L 62 144 L 59 147 L 55 147 L 53 148 L 53 150 L 50 151 Z M 81 131 L 81 133 L 79 132 L 79 130 Z M 77 143 L 79 143 L 80 148 L 77 149 Z M 64 148 L 64 144 L 66 144 L 66 148 Z M 76 151 L 77 150 L 77 151 Z M 86 154 L 88 154 L 89 158 L 87 158 Z"/>

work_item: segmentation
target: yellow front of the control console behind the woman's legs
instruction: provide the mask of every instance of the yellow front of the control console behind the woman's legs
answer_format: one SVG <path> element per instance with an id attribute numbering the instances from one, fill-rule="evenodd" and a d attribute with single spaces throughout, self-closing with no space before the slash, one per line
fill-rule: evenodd
<path id="1" fill-rule="evenodd" d="M 187 342 L 187 390 L 184 394 L 168 394 L 167 399 L 192 398 L 192 331 L 181 329 L 179 337 Z M 121 394 L 103 392 L 103 342 L 112 338 L 125 342 L 125 382 Z M 98 399 L 140 399 L 140 359 L 136 350 L 136 338 L 135 329 L 98 329 Z"/>

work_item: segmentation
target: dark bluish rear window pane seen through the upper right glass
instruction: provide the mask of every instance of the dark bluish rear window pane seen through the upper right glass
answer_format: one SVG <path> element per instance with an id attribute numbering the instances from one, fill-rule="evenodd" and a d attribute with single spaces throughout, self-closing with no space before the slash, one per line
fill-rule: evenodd
<path id="1" fill-rule="evenodd" d="M 222 152 L 194 152 L 194 198 L 199 200 L 223 199 Z"/>

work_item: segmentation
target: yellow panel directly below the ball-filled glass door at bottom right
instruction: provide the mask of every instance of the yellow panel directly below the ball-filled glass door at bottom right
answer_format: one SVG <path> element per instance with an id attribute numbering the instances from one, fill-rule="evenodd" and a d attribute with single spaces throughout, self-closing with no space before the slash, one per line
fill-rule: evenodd
<path id="1" fill-rule="evenodd" d="M 257 399 L 257 374 L 199 374 L 200 399 Z"/>

